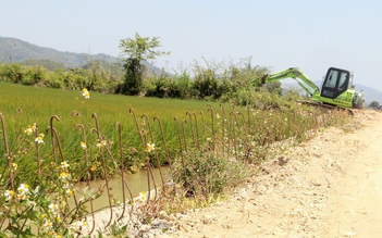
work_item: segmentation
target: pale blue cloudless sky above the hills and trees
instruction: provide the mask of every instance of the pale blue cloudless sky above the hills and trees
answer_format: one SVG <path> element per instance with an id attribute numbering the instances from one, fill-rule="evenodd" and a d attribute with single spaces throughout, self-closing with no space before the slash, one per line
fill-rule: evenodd
<path id="1" fill-rule="evenodd" d="M 0 0 L 0 36 L 60 51 L 119 57 L 121 39 L 159 37 L 168 72 L 199 65 L 330 66 L 382 91 L 380 0 Z"/>

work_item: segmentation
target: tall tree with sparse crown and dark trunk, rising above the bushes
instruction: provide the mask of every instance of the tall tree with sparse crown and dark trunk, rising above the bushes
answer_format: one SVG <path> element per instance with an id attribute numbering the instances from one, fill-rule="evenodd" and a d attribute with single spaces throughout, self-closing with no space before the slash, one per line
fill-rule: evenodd
<path id="1" fill-rule="evenodd" d="M 156 50 L 161 47 L 159 37 L 141 37 L 135 34 L 135 39 L 127 38 L 120 41 L 121 54 L 124 58 L 125 82 L 119 92 L 138 95 L 143 86 L 145 65 L 143 61 L 155 60 L 169 52 Z"/>

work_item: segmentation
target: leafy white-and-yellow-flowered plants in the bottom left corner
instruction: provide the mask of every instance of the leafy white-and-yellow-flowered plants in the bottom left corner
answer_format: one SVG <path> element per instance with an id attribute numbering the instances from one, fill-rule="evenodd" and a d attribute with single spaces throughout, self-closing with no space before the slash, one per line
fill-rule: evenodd
<path id="1" fill-rule="evenodd" d="M 13 165 L 13 173 L 22 168 Z M 0 177 L 1 178 L 1 177 Z M 5 237 L 75 237 L 86 223 L 85 203 L 96 193 L 84 193 L 73 209 L 76 189 L 73 187 L 70 164 L 52 167 L 36 188 L 24 183 L 7 189 L 0 184 L 0 227 Z M 4 224 L 4 222 L 7 222 Z M 1 233 L 0 233 L 1 235 Z M 8 236 L 9 235 L 9 236 Z"/>

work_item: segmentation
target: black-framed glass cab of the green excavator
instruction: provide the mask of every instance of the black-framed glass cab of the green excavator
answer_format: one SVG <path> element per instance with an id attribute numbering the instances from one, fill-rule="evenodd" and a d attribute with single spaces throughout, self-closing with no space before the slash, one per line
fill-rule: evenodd
<path id="1" fill-rule="evenodd" d="M 348 88 L 353 88 L 353 73 L 330 67 L 322 83 L 321 97 L 335 99 Z"/>

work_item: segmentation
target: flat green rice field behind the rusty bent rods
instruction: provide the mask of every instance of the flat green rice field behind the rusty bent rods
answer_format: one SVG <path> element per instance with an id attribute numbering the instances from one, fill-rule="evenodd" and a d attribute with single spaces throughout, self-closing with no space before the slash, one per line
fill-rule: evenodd
<path id="1" fill-rule="evenodd" d="M 34 123 L 37 124 L 38 133 L 45 134 L 45 143 L 39 146 L 40 156 L 42 161 L 52 161 L 51 136 L 47 128 L 50 126 L 51 116 L 53 115 L 59 118 L 54 118 L 52 122 L 59 135 L 64 159 L 70 162 L 79 162 L 81 158 L 84 156 L 81 142 L 85 140 L 90 156 L 99 156 L 96 147 L 99 139 L 93 130 L 93 128 L 96 128 L 94 113 L 98 118 L 99 133 L 102 139 L 108 141 L 112 151 L 118 151 L 119 133 L 116 123 L 122 128 L 123 147 L 126 150 L 130 148 L 137 150 L 140 148 L 141 150 L 143 146 L 137 125 L 141 127 L 144 122 L 146 127 L 151 125 L 153 136 L 159 138 L 158 121 L 153 121 L 153 117 L 158 117 L 163 130 L 165 130 L 167 142 L 171 147 L 171 145 L 178 145 L 175 117 L 178 118 L 181 125 L 184 118 L 188 118 L 187 112 L 199 114 L 200 111 L 204 111 L 204 113 L 208 113 L 207 109 L 209 107 L 217 109 L 220 107 L 217 103 L 208 104 L 204 101 L 102 95 L 91 91 L 90 98 L 85 99 L 81 91 L 27 87 L 5 83 L 0 84 L 0 113 L 4 121 L 5 136 L 13 161 L 20 165 L 28 165 L 28 167 L 20 166 L 20 176 L 24 173 L 26 176 L 36 170 L 29 163 L 36 161 L 36 151 L 32 149 L 35 137 L 27 136 L 24 133 Z M 136 117 L 131 109 L 134 110 Z M 78 129 L 78 125 L 83 125 L 85 128 L 85 139 L 81 129 Z M 5 154 L 3 138 L 2 136 L 0 138 L 0 153 Z M 150 140 L 149 136 L 147 136 L 147 140 Z M 164 154 L 163 145 L 158 142 L 156 146 L 158 151 Z M 161 146 L 162 150 L 160 150 Z M 126 156 L 131 159 L 127 165 L 137 163 L 137 158 L 141 158 L 139 154 L 136 154 L 137 158 Z M 2 160 L 1 164 L 4 165 L 5 160 Z"/>

